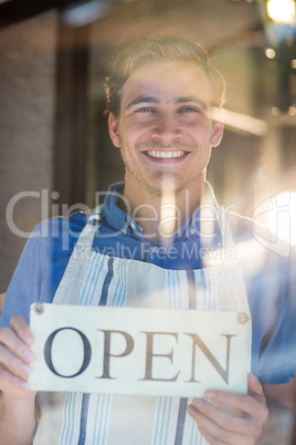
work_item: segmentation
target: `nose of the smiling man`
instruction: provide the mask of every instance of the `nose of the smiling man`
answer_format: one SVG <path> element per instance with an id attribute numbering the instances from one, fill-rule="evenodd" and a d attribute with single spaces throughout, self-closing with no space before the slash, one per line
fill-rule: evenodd
<path id="1" fill-rule="evenodd" d="M 152 128 L 152 136 L 161 139 L 165 144 L 178 138 L 181 135 L 181 128 L 175 113 L 161 113 Z"/>

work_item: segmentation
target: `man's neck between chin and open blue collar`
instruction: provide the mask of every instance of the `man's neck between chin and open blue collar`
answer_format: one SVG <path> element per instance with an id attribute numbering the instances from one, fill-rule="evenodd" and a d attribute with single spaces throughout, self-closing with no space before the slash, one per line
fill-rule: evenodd
<path id="1" fill-rule="evenodd" d="M 200 206 L 205 174 L 176 195 L 170 186 L 159 195 L 149 193 L 126 177 L 124 195 L 128 199 L 133 219 L 154 242 L 169 239 Z"/>

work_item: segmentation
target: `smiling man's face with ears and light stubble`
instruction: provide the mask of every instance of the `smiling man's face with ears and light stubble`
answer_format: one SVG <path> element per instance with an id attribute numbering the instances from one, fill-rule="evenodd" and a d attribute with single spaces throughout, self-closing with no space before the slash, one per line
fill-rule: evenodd
<path id="1" fill-rule="evenodd" d="M 223 133 L 222 124 L 211 121 L 211 95 L 207 74 L 192 62 L 149 62 L 131 73 L 119 117 L 109 115 L 128 189 L 158 196 L 169 178 L 177 194 L 198 192 L 211 147 Z"/>

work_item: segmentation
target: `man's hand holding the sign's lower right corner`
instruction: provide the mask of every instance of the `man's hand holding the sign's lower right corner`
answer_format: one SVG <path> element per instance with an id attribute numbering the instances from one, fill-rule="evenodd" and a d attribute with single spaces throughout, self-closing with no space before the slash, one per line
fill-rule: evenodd
<path id="1" fill-rule="evenodd" d="M 256 443 L 263 433 L 268 410 L 262 386 L 254 375 L 249 375 L 247 394 L 209 390 L 204 395 L 209 401 L 234 407 L 233 413 L 228 413 L 204 399 L 194 399 L 188 407 L 188 413 L 211 445 Z"/>

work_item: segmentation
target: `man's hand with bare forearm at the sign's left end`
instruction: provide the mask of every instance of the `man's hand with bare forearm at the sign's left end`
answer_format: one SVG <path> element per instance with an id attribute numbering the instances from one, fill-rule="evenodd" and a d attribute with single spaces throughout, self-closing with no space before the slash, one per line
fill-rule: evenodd
<path id="1" fill-rule="evenodd" d="M 36 427 L 35 392 L 28 389 L 34 342 L 27 321 L 12 317 L 0 329 L 0 444 L 31 444 Z"/>

